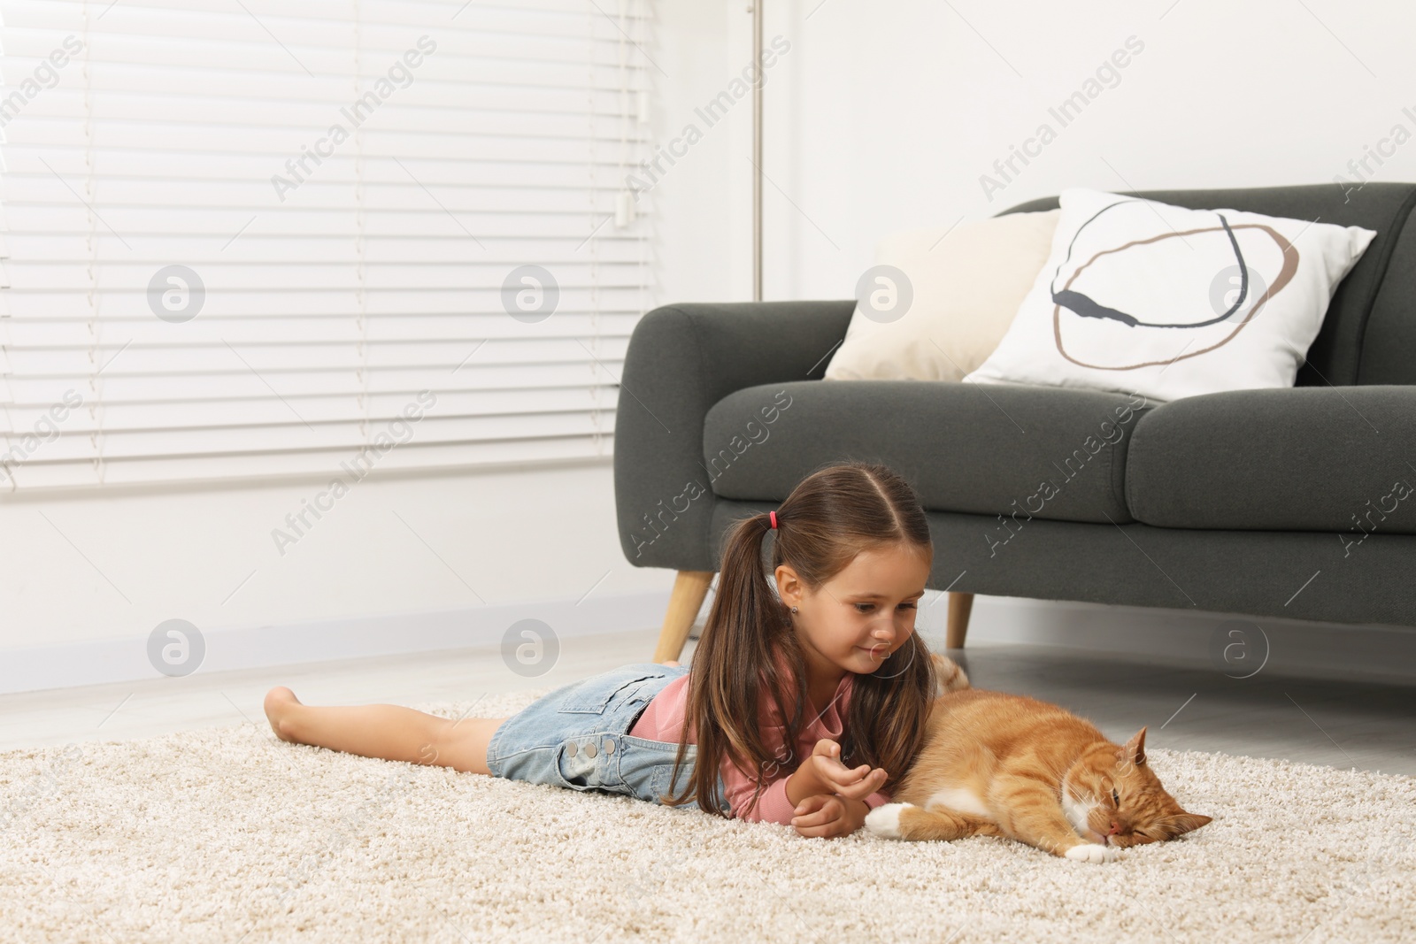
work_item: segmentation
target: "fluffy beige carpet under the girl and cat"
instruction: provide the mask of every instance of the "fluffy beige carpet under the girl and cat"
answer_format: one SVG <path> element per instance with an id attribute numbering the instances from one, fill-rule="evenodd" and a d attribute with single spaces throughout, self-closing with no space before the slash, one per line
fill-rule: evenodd
<path id="1" fill-rule="evenodd" d="M 1151 756 L 1215 822 L 1085 865 L 986 838 L 801 839 L 255 725 L 10 752 L 0 940 L 1416 940 L 1416 780 Z"/>

